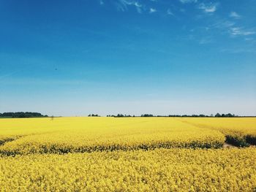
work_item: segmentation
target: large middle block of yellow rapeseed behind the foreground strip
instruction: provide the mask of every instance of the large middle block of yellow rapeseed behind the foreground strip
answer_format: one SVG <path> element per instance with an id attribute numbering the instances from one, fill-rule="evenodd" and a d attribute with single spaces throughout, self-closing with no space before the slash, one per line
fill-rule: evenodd
<path id="1" fill-rule="evenodd" d="M 159 147 L 219 148 L 217 130 L 176 118 L 49 118 L 1 120 L 2 155 L 150 150 Z M 4 140 L 2 140 L 4 142 Z"/>

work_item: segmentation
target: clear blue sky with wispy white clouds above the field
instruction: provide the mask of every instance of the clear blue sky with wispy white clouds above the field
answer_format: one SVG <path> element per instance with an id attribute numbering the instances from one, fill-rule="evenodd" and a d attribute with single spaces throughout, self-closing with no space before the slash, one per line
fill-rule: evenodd
<path id="1" fill-rule="evenodd" d="M 0 0 L 0 112 L 256 115 L 256 1 Z"/>

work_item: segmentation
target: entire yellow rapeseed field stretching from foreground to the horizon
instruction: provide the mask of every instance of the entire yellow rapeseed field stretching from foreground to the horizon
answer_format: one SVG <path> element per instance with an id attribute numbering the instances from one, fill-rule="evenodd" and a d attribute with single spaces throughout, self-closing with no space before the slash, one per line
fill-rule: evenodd
<path id="1" fill-rule="evenodd" d="M 0 119 L 0 189 L 256 191 L 255 138 L 256 118 Z"/>

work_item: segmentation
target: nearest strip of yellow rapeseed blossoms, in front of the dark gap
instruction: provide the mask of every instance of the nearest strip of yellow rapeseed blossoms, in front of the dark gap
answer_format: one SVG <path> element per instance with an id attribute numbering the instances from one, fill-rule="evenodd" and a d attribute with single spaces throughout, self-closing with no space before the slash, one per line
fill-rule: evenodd
<path id="1" fill-rule="evenodd" d="M 0 158 L 0 191 L 255 191 L 256 148 Z"/>

